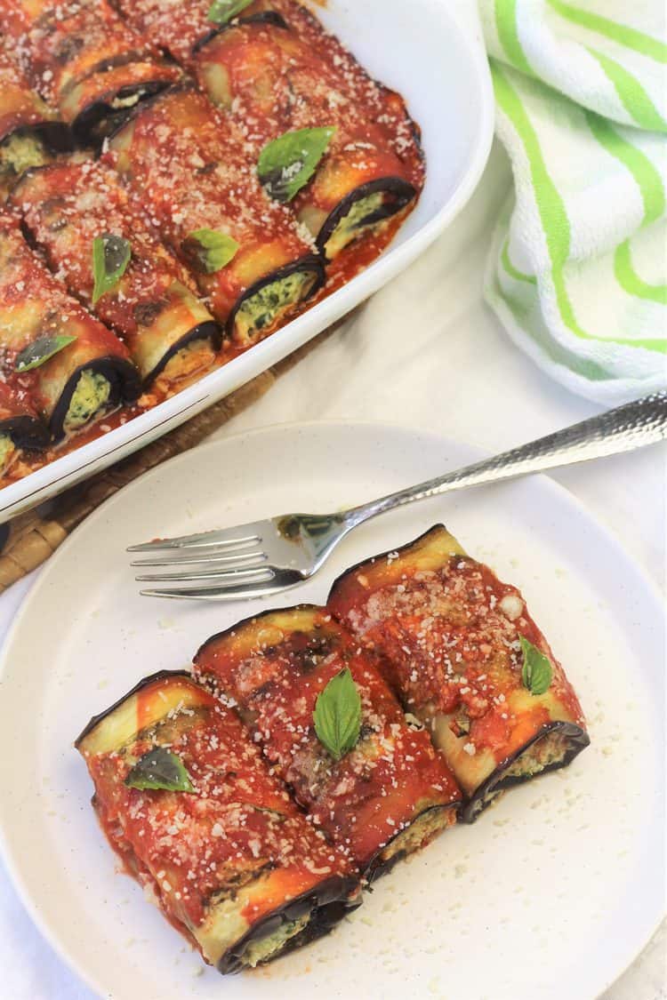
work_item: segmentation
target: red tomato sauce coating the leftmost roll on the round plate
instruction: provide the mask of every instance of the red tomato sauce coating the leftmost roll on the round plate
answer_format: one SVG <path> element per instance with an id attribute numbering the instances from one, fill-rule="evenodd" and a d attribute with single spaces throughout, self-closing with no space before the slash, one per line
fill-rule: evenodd
<path id="1" fill-rule="evenodd" d="M 174 684 L 195 687 L 166 678 L 143 689 L 139 730 L 160 691 Z M 197 689 L 195 705 L 172 709 L 163 722 L 168 737 L 162 727 L 145 729 L 122 753 L 91 754 L 85 741 L 80 749 L 112 846 L 173 921 L 197 927 L 215 894 L 233 896 L 234 886 L 271 872 L 268 891 L 243 912 L 252 924 L 332 875 L 347 874 L 340 854 L 306 822 L 231 711 Z M 132 763 L 161 740 L 184 764 L 194 794 L 125 785 Z"/>

